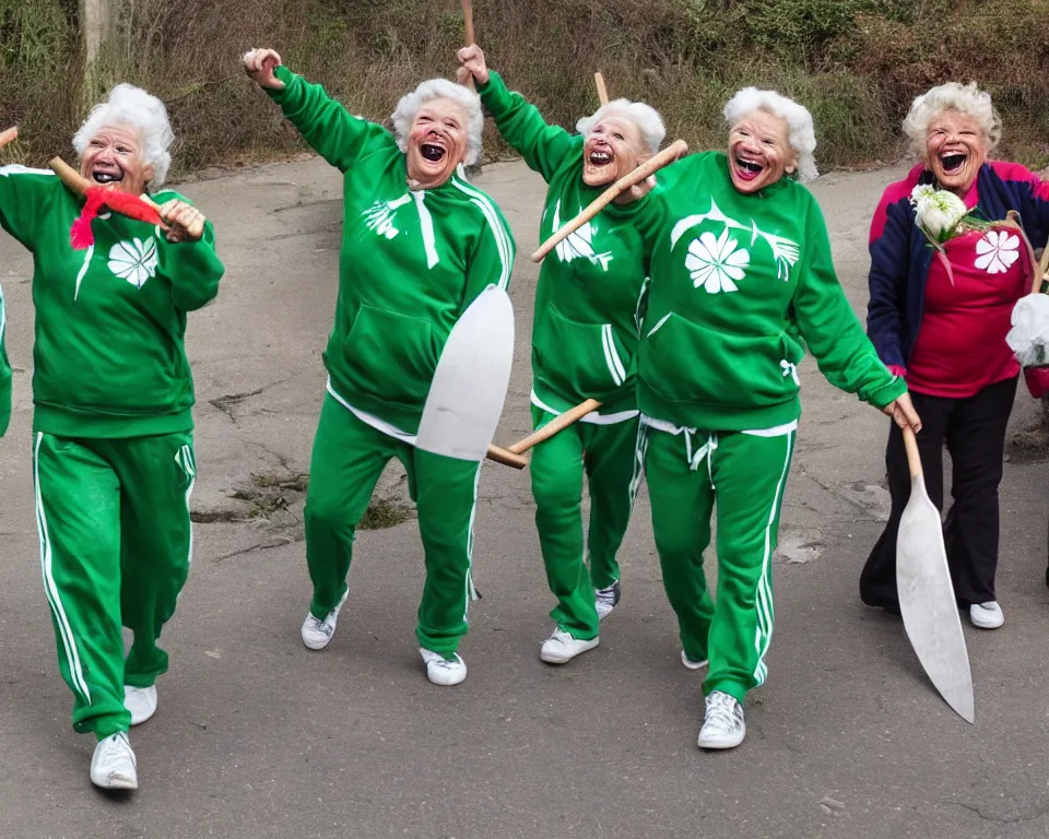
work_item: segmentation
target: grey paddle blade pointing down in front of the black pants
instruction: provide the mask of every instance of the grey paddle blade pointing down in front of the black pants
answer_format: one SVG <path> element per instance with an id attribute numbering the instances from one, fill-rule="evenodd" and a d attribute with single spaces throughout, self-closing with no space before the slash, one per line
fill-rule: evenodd
<path id="1" fill-rule="evenodd" d="M 896 587 L 904 628 L 918 661 L 947 705 L 973 722 L 973 675 L 940 511 L 929 500 L 920 474 L 911 480 L 910 500 L 899 521 Z"/>

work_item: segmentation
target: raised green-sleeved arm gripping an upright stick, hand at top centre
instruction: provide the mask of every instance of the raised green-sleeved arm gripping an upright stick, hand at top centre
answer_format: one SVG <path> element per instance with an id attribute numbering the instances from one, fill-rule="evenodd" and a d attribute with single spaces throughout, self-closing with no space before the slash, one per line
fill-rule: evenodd
<path id="1" fill-rule="evenodd" d="M 488 70 L 484 54 L 476 45 L 459 50 L 459 60 L 478 83 L 481 102 L 495 119 L 495 125 L 533 172 L 550 181 L 554 172 L 573 152 L 582 147 L 582 138 L 573 137 L 559 126 L 551 126 L 539 108 L 519 93 L 507 90 L 503 79 Z"/>

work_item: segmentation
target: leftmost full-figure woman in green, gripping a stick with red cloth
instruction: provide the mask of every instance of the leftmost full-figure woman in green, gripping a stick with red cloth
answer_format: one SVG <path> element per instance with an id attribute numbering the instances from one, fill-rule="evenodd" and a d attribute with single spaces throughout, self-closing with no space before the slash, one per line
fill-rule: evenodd
<path id="1" fill-rule="evenodd" d="M 161 190 L 163 103 L 119 84 L 73 138 L 81 174 L 152 192 L 166 231 L 99 215 L 74 250 L 81 200 L 50 170 L 0 168 L 0 224 L 33 253 L 33 476 L 58 661 L 73 729 L 98 737 L 91 780 L 135 789 L 128 729 L 156 710 L 156 646 L 189 572 L 193 381 L 186 315 L 219 291 L 214 231 Z M 125 659 L 121 625 L 134 640 Z"/>

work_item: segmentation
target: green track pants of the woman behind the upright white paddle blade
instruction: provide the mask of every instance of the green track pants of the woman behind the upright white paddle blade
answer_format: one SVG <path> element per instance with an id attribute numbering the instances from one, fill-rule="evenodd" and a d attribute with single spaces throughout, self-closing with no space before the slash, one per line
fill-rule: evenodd
<path id="1" fill-rule="evenodd" d="M 363 423 L 331 394 L 320 410 L 306 494 L 309 610 L 323 619 L 346 591 L 357 524 L 391 458 L 408 471 L 426 557 L 415 634 L 424 649 L 450 658 L 467 634 L 480 464 L 420 451 Z"/>

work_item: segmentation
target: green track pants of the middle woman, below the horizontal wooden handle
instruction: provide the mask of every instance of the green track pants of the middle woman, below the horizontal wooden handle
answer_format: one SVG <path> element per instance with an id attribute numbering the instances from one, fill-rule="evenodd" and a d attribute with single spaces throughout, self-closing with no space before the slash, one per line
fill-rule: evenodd
<path id="1" fill-rule="evenodd" d="M 537 429 L 555 416 L 532 406 L 532 424 Z M 637 494 L 634 484 L 637 423 L 637 418 L 613 425 L 576 423 L 532 450 L 529 471 L 535 499 L 535 525 L 546 581 L 557 598 L 550 616 L 574 638 L 589 640 L 598 635 L 593 590 L 608 588 L 620 579 L 615 554 L 626 533 Z M 581 509 L 584 473 L 590 492 L 586 552 Z"/>

